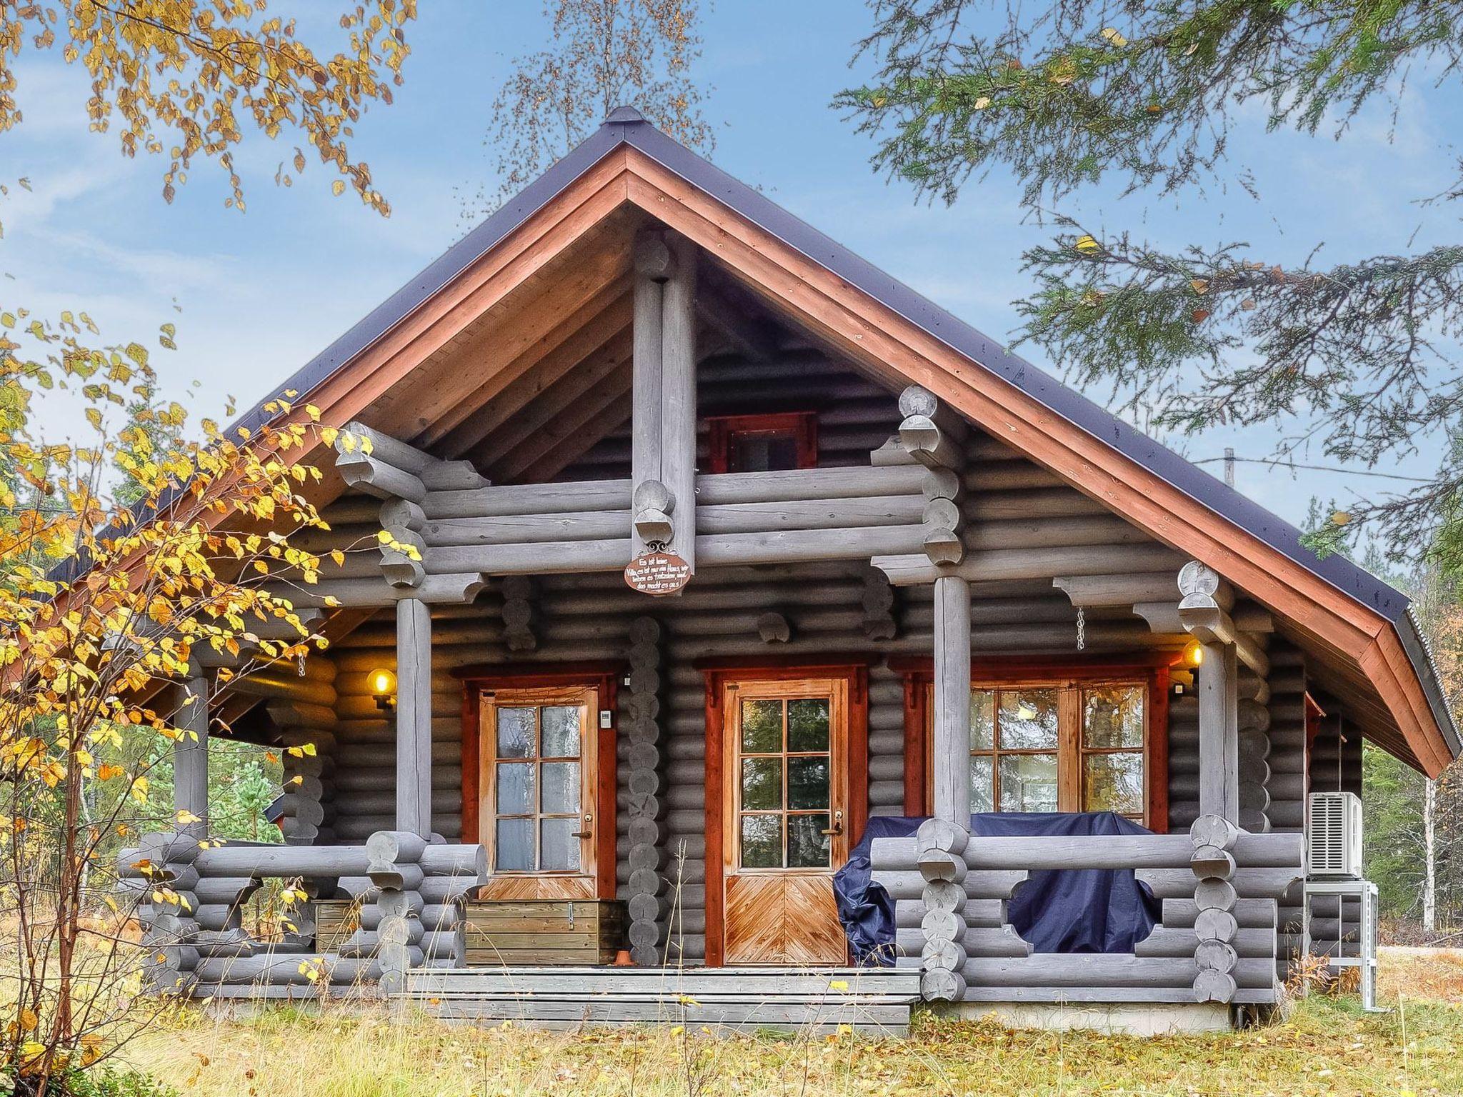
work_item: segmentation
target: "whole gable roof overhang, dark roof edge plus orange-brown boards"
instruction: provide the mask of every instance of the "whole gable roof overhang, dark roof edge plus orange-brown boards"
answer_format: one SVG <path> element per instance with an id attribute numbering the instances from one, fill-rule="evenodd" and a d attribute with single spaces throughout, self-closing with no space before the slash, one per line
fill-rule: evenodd
<path id="1" fill-rule="evenodd" d="M 534 310 L 511 306 L 535 293 L 562 307 L 578 300 L 578 307 L 598 301 L 607 309 L 619 300 L 616 262 L 623 255 L 603 247 L 612 238 L 606 224 L 633 208 L 696 243 L 745 290 L 853 363 L 891 383 L 928 388 L 1065 483 L 1214 568 L 1283 617 L 1287 630 L 1334 661 L 1346 679 L 1369 683 L 1378 720 L 1384 717 L 1374 737 L 1387 749 L 1434 775 L 1459 753 L 1457 731 L 1400 594 L 1349 562 L 1317 560 L 1295 529 L 1251 500 L 1007 355 L 632 114 L 612 116 L 287 382 L 301 393 L 296 405 L 307 399 L 326 423 L 358 418 L 411 427 L 408 437 L 451 439 L 477 407 L 512 385 L 511 363 L 565 319 L 562 312 L 540 314 L 515 328 L 505 317 Z M 535 279 L 553 281 L 556 260 L 569 255 L 600 259 L 572 285 L 535 290 Z M 503 332 L 512 333 L 506 350 L 494 344 Z M 465 345 L 487 348 L 471 392 L 455 402 L 423 392 L 430 389 L 421 383 L 430 363 Z M 244 423 L 260 417 L 256 408 Z"/>

